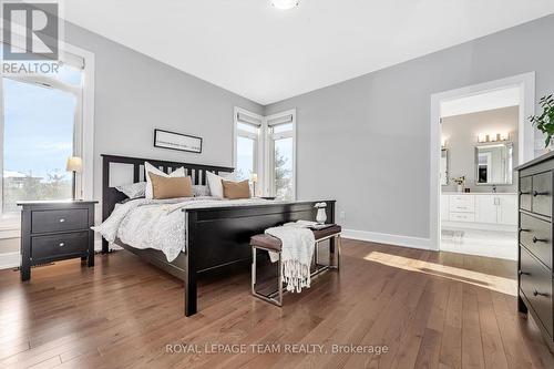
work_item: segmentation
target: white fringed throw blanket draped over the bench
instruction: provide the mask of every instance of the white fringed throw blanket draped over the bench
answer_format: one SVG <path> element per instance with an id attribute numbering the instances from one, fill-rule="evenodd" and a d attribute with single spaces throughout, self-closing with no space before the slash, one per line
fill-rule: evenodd
<path id="1" fill-rule="evenodd" d="M 281 227 L 266 229 L 266 234 L 280 239 L 281 283 L 288 291 L 300 293 L 310 287 L 310 265 L 316 239 L 311 229 L 298 223 L 287 223 Z"/>

